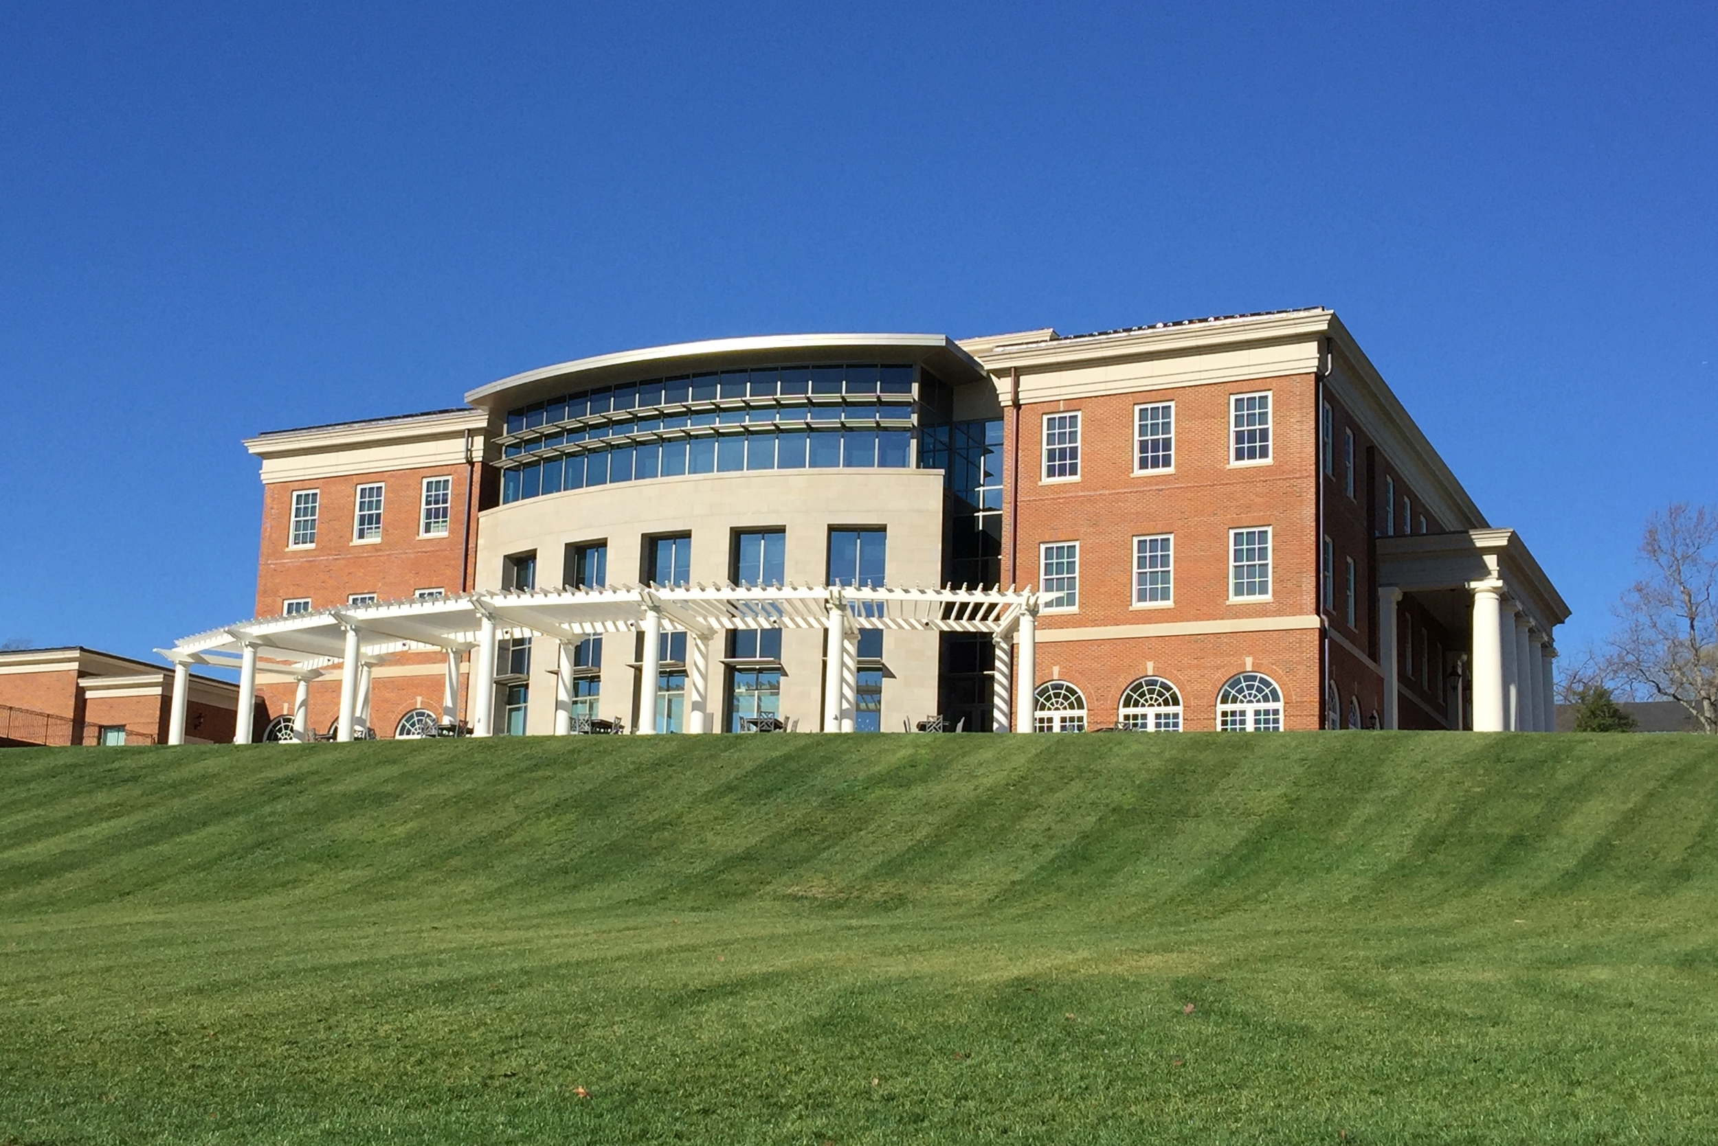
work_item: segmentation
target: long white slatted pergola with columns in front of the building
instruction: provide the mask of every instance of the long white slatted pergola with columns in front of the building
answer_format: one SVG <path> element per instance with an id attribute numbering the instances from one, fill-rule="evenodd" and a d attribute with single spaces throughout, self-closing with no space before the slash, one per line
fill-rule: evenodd
<path id="1" fill-rule="evenodd" d="M 192 664 L 239 669 L 239 721 L 234 743 L 249 743 L 246 714 L 256 707 L 256 673 L 297 679 L 294 738 L 309 739 L 309 683 L 340 669 L 335 739 L 369 726 L 371 667 L 400 654 L 443 652 L 442 722 L 459 719 L 460 657 L 471 654 L 472 736 L 495 734 L 497 642 L 548 636 L 560 643 L 555 733 L 572 731 L 572 652 L 603 633 L 644 633 L 637 733 L 656 733 L 661 633 L 687 635 L 687 731 L 713 731 L 704 698 L 710 645 L 728 630 L 816 628 L 826 633 L 828 673 L 823 731 L 852 731 L 857 693 L 859 630 L 990 633 L 996 648 L 995 727 L 1033 731 L 1034 618 L 1038 594 L 991 588 L 850 588 L 832 585 L 620 585 L 615 588 L 479 590 L 459 597 L 337 606 L 294 616 L 258 618 L 186 636 L 158 650 L 174 662 L 174 709 L 167 743 L 186 738 L 186 697 Z M 1010 647 L 1019 642 L 1019 659 Z M 1010 671 L 1012 667 L 1012 671 Z M 1019 698 L 1010 703 L 1010 679 Z"/>

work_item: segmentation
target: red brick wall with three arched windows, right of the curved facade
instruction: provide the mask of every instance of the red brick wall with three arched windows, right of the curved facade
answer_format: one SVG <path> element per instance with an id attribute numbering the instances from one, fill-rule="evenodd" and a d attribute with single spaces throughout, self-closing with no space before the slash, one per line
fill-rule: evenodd
<path id="1" fill-rule="evenodd" d="M 1232 467 L 1232 395 L 1271 391 L 1271 463 Z M 1134 407 L 1175 403 L 1175 472 L 1134 477 Z M 1081 410 L 1081 477 L 1041 482 L 1043 415 Z M 1045 612 L 1039 631 L 1175 621 L 1239 621 L 1318 612 L 1318 401 L 1313 376 L 1031 403 L 1005 412 L 1012 504 L 1003 520 L 1003 582 L 1038 585 L 1038 546 L 1081 544 L 1079 609 Z M 1019 473 L 1014 472 L 1017 463 Z M 1271 527 L 1271 599 L 1228 600 L 1228 530 Z M 1175 535 L 1172 607 L 1132 606 L 1132 539 Z M 1077 685 L 1094 726 L 1112 724 L 1120 691 L 1154 662 L 1182 691 L 1185 727 L 1215 727 L 1216 691 L 1235 673 L 1271 676 L 1288 727 L 1318 727 L 1323 685 L 1316 630 L 1045 642 L 1038 681 Z"/>

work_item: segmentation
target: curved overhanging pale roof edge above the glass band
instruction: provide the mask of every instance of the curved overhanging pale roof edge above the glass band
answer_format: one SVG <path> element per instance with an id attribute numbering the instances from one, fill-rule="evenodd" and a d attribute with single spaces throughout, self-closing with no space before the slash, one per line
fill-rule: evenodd
<path id="1" fill-rule="evenodd" d="M 847 347 L 862 350 L 917 352 L 916 360 L 924 360 L 933 355 L 947 355 L 947 360 L 952 360 L 972 376 L 971 379 L 948 381 L 981 381 L 986 377 L 984 367 L 979 365 L 978 359 L 967 353 L 947 335 L 747 335 L 742 338 L 706 338 L 703 341 L 641 347 L 637 350 L 620 350 L 615 353 L 591 355 L 588 359 L 574 359 L 570 362 L 557 362 L 534 371 L 524 371 L 522 374 L 510 374 L 509 377 L 469 389 L 466 391 L 466 401 L 474 407 L 483 405 L 486 408 L 493 408 L 503 405 L 503 395 L 514 391 L 529 393 L 536 383 L 543 383 L 546 379 L 565 379 L 577 374 L 593 376 L 591 383 L 600 384 L 601 379 L 612 372 L 634 372 L 637 367 L 646 365 L 660 365 L 660 369 L 670 371 L 668 364 L 673 362 L 756 357 L 768 352 L 797 352 L 821 357 L 823 353 L 837 352 Z"/>

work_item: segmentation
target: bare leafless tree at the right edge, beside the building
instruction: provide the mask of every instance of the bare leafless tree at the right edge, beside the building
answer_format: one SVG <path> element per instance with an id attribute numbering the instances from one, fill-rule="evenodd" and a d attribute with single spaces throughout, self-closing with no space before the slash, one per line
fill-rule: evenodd
<path id="1" fill-rule="evenodd" d="M 1677 503 L 1646 522 L 1648 576 L 1622 595 L 1608 674 L 1675 700 L 1718 733 L 1718 510 Z"/>

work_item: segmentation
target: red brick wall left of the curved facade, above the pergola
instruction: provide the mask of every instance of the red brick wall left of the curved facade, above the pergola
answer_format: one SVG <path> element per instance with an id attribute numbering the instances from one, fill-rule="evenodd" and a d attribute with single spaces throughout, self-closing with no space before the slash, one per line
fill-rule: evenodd
<path id="1" fill-rule="evenodd" d="M 471 588 L 471 570 L 478 552 L 476 515 L 486 508 L 488 486 L 493 484 L 479 475 L 478 487 L 467 487 L 472 468 L 484 467 L 454 465 L 263 486 L 256 614 L 278 616 L 282 602 L 294 597 L 309 597 L 311 609 L 325 609 L 345 604 L 352 594 L 376 594 L 380 600 L 399 600 L 419 588 L 442 588 L 448 595 Z M 454 479 L 452 520 L 447 535 L 442 537 L 417 535 L 426 477 Z M 381 540 L 354 542 L 352 515 L 357 487 L 373 482 L 385 486 Z M 301 489 L 316 489 L 321 494 L 313 549 L 287 547 L 292 494 Z"/>

